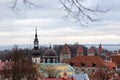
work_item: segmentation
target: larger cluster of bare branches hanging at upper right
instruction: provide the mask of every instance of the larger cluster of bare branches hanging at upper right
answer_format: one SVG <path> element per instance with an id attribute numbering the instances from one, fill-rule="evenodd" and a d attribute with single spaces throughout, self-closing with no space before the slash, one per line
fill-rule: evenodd
<path id="1" fill-rule="evenodd" d="M 67 12 L 67 18 L 72 18 L 82 24 L 88 24 L 88 22 L 98 21 L 98 14 L 109 11 L 101 10 L 99 6 L 95 9 L 88 8 L 82 5 L 83 0 L 59 0 L 63 5 L 63 8 Z"/>

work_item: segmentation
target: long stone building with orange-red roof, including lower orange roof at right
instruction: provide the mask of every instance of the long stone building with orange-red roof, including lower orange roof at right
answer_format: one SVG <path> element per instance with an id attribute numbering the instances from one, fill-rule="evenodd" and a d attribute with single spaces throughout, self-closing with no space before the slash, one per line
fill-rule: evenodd
<path id="1" fill-rule="evenodd" d="M 111 70 L 115 68 L 114 63 L 106 63 L 99 56 L 75 56 L 71 59 L 70 64 L 72 64 L 77 73 L 93 73 L 101 68 L 109 68 Z"/>

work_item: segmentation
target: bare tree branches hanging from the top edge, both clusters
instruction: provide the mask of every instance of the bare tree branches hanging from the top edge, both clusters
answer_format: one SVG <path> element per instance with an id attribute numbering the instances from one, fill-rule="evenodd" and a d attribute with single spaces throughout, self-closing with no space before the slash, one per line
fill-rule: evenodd
<path id="1" fill-rule="evenodd" d="M 24 3 L 25 5 L 31 7 L 36 6 L 34 4 L 34 0 L 12 0 L 12 9 L 18 9 L 18 3 Z M 105 13 L 110 9 L 100 9 L 99 6 L 95 8 L 89 8 L 83 5 L 82 3 L 85 2 L 84 0 L 59 0 L 61 5 L 63 6 L 65 12 L 67 12 L 66 17 L 76 22 L 79 22 L 81 25 L 88 24 L 88 22 L 94 22 L 99 20 L 99 13 Z"/>

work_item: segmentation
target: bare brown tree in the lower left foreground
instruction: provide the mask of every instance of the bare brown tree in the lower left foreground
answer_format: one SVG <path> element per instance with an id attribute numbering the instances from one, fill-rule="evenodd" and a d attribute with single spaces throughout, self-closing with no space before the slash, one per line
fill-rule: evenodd
<path id="1" fill-rule="evenodd" d="M 9 80 L 34 80 L 36 77 L 36 70 L 29 58 L 17 48 L 13 48 L 9 53 L 11 62 L 5 64 L 2 75 Z"/>

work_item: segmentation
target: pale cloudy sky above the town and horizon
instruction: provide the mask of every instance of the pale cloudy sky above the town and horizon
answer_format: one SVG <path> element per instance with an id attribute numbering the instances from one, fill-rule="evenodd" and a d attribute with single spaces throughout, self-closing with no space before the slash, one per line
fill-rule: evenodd
<path id="1" fill-rule="evenodd" d="M 111 9 L 86 26 L 66 20 L 59 0 L 34 0 L 38 7 L 31 8 L 19 3 L 17 12 L 11 1 L 0 0 L 0 45 L 33 44 L 36 27 L 39 44 L 120 44 L 120 0 L 86 0 Z"/>

